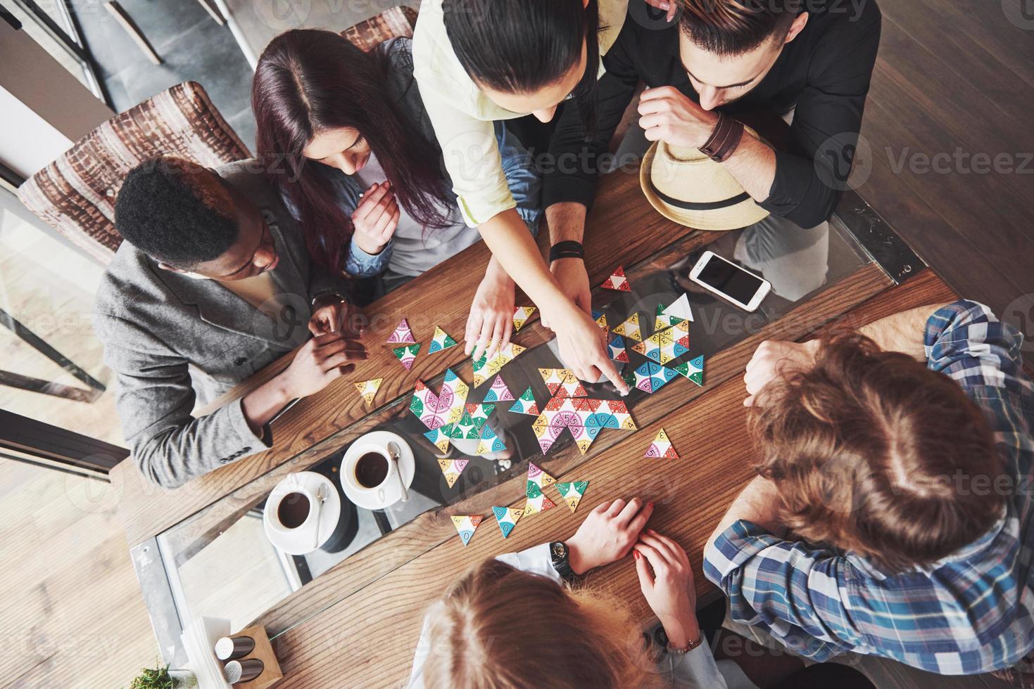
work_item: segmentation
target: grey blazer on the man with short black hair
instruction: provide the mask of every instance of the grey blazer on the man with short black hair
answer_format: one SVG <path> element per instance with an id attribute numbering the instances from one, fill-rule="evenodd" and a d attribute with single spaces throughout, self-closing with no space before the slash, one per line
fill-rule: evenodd
<path id="1" fill-rule="evenodd" d="M 109 265 L 94 307 L 104 363 L 117 375 L 123 434 L 141 472 L 165 488 L 271 445 L 268 429 L 263 437 L 251 431 L 240 401 L 201 418 L 191 411 L 305 342 L 311 300 L 347 288 L 340 274 L 310 263 L 300 228 L 255 161 L 217 171 L 270 225 L 280 258 L 271 273 L 280 317 L 218 282 L 161 270 L 128 242 Z"/>

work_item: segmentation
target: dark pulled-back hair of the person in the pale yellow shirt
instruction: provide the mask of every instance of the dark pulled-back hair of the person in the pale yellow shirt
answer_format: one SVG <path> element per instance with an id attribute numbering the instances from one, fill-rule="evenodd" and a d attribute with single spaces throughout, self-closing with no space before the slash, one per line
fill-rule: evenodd
<path id="1" fill-rule="evenodd" d="M 587 129 L 596 120 L 600 70 L 598 0 L 444 0 L 446 33 L 466 73 L 507 93 L 555 84 L 581 59 L 585 73 L 574 90 Z"/>

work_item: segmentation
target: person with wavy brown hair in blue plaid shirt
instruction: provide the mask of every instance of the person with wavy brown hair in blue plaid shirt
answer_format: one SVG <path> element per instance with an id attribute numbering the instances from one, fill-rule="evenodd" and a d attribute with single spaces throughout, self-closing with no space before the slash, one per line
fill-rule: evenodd
<path id="1" fill-rule="evenodd" d="M 1031 652 L 1022 343 L 968 301 L 763 343 L 744 377 L 759 475 L 704 552 L 732 618 L 817 661 L 854 651 L 968 675 Z"/>

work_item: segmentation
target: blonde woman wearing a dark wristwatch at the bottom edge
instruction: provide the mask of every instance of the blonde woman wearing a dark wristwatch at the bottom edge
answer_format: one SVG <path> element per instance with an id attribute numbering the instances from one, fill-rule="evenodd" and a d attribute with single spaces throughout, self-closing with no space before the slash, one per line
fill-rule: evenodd
<path id="1" fill-rule="evenodd" d="M 410 689 L 753 688 L 734 663 L 714 662 L 697 624 L 686 551 L 643 530 L 652 509 L 638 498 L 606 502 L 566 543 L 476 566 L 424 620 Z M 643 596 L 668 636 L 659 660 L 622 601 L 591 587 L 565 586 L 565 578 L 630 551 Z"/>

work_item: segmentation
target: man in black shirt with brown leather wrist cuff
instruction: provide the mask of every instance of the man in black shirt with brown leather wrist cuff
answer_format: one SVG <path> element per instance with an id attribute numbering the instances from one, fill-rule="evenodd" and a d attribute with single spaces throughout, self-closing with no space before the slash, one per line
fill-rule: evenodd
<path id="1" fill-rule="evenodd" d="M 785 152 L 750 136 L 732 150 L 707 152 L 720 154 L 744 191 L 777 218 L 809 228 L 832 214 L 876 63 L 875 0 L 679 0 L 679 6 L 681 17 L 669 23 L 644 0 L 630 0 L 625 26 L 603 58 L 607 73 L 587 143 L 578 108 L 564 108 L 550 144 L 556 164 L 543 190 L 553 244 L 581 240 L 597 161 L 640 81 L 646 91 L 639 123 L 649 140 L 705 148 L 720 114 L 729 127 L 738 113 L 792 112 Z M 580 259 L 561 258 L 551 268 L 572 297 L 589 303 L 577 299 L 588 289 Z"/>

